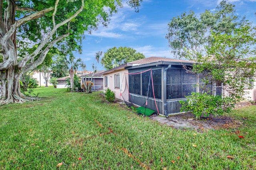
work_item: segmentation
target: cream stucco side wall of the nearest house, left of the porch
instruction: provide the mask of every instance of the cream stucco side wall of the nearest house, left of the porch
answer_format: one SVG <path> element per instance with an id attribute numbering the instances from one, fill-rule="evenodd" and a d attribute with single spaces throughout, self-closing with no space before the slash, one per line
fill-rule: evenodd
<path id="1" fill-rule="evenodd" d="M 127 84 L 129 84 L 129 79 L 128 79 L 128 70 L 117 70 L 108 74 L 104 74 L 104 79 L 103 79 L 103 88 L 104 91 L 109 88 L 110 90 L 112 90 L 113 92 L 115 92 L 115 96 L 118 99 L 121 100 L 125 100 L 128 101 L 128 90 L 125 90 L 125 86 L 126 86 L 126 80 L 127 80 Z M 115 74 L 120 74 L 120 89 L 115 88 L 114 86 L 114 78 L 115 78 Z M 106 86 L 105 84 L 105 76 L 108 76 L 108 86 Z M 120 92 L 122 93 L 122 97 L 120 96 Z M 123 99 L 124 98 L 124 99 Z"/>

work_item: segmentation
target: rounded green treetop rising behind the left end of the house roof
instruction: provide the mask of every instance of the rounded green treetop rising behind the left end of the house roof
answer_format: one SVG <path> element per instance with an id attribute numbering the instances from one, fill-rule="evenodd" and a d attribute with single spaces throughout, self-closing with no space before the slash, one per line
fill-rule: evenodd
<path id="1" fill-rule="evenodd" d="M 113 47 L 104 53 L 100 63 L 109 70 L 116 66 L 144 58 L 145 56 L 142 53 L 138 53 L 130 47 Z"/>

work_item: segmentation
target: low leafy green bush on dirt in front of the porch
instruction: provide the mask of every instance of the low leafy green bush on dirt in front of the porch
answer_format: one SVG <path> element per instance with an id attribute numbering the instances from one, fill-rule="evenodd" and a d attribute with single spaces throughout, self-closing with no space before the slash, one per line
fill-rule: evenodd
<path id="1" fill-rule="evenodd" d="M 186 101 L 180 101 L 182 107 L 180 111 L 192 112 L 196 119 L 200 119 L 203 114 L 205 117 L 209 115 L 222 115 L 224 111 L 229 112 L 234 107 L 233 101 L 230 98 L 222 98 L 211 94 L 191 93 L 186 96 Z"/>

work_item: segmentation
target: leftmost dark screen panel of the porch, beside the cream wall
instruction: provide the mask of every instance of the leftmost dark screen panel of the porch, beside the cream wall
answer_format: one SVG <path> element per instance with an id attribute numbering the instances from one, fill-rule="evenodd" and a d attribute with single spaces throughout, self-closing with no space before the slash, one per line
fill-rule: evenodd
<path id="1" fill-rule="evenodd" d="M 140 95 L 140 74 L 129 74 L 129 92 Z"/>

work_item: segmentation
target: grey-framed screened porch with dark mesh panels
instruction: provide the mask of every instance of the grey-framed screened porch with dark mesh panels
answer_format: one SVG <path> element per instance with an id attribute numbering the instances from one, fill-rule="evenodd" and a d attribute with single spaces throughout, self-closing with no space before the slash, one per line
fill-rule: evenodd
<path id="1" fill-rule="evenodd" d="M 192 92 L 205 90 L 200 88 L 203 74 L 187 71 L 192 64 L 190 61 L 158 61 L 125 68 L 129 73 L 129 101 L 161 115 L 180 113 L 180 100 L 186 100 Z M 221 84 L 208 84 L 207 90 L 214 95 L 222 94 Z"/>

